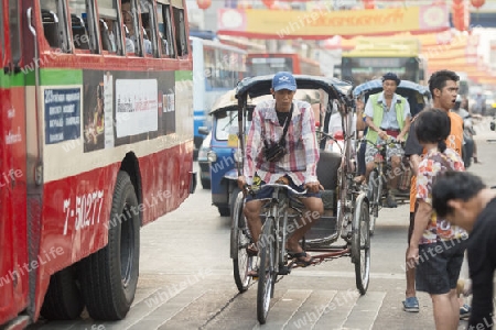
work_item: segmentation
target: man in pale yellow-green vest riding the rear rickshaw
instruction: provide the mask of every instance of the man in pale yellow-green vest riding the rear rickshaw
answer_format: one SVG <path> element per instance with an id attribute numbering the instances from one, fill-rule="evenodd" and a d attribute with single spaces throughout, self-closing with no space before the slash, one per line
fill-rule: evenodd
<path id="1" fill-rule="evenodd" d="M 389 136 L 396 138 L 398 142 L 405 142 L 410 129 L 410 105 L 407 99 L 396 94 L 400 79 L 392 73 L 382 76 L 382 91 L 371 95 L 365 105 L 366 122 L 368 132 L 366 139 L 373 143 L 385 141 Z M 371 145 L 367 145 L 365 152 L 366 173 L 368 180 L 370 172 L 374 169 L 374 157 L 378 151 Z M 391 162 L 392 174 L 396 174 L 401 165 L 401 157 L 405 152 L 399 146 L 390 146 L 387 151 L 387 158 Z M 386 204 L 390 208 L 398 205 L 395 195 L 398 188 L 398 175 L 392 175 L 389 179 L 389 194 Z"/>

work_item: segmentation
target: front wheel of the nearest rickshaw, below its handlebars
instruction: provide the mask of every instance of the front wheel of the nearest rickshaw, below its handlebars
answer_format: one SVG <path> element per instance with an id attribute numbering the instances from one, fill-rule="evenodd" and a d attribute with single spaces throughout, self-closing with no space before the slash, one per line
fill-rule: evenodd
<path id="1" fill-rule="evenodd" d="M 263 223 L 260 249 L 260 266 L 258 268 L 257 318 L 265 324 L 269 315 L 270 298 L 273 296 L 276 284 L 276 245 L 273 239 L 276 230 L 273 218 L 267 217 Z"/>

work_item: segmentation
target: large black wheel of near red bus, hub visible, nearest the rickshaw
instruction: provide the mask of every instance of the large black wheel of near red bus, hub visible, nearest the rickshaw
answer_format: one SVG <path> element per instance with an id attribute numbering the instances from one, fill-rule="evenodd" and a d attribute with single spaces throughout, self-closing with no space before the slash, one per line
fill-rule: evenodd
<path id="1" fill-rule="evenodd" d="M 82 290 L 86 308 L 97 320 L 121 320 L 131 307 L 138 285 L 140 216 L 128 173 L 117 175 L 108 224 L 108 244 L 82 261 Z"/>

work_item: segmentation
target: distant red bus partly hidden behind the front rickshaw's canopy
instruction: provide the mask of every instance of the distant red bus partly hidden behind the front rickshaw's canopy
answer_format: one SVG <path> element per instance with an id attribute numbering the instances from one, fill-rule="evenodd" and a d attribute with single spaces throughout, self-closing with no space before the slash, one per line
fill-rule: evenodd
<path id="1" fill-rule="evenodd" d="M 250 77 L 272 75 L 278 72 L 322 76 L 319 62 L 294 53 L 251 53 L 247 55 L 246 67 Z"/>

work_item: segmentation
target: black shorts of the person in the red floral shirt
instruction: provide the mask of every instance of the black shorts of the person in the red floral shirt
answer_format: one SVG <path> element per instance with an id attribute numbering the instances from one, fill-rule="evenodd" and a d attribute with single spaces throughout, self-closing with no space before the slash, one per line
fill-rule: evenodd
<path id="1" fill-rule="evenodd" d="M 431 295 L 443 295 L 456 288 L 466 241 L 465 238 L 419 244 L 416 289 Z"/>

